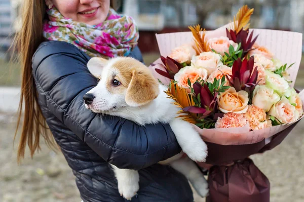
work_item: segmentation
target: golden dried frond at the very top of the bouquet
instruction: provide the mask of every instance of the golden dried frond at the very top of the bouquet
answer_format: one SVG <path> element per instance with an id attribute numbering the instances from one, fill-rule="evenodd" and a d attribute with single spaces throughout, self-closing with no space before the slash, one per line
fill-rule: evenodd
<path id="1" fill-rule="evenodd" d="M 241 30 L 247 30 L 250 26 L 250 17 L 254 9 L 249 9 L 247 5 L 243 6 L 234 17 L 234 30 L 238 34 Z"/>

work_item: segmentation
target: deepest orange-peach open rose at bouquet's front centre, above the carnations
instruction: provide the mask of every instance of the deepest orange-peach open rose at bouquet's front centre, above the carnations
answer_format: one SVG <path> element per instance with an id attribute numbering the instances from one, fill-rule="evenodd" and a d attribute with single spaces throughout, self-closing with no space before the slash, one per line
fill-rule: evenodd
<path id="1" fill-rule="evenodd" d="M 248 109 L 248 93 L 246 91 L 237 92 L 230 87 L 225 92 L 217 96 L 218 108 L 221 112 L 245 113 Z"/>

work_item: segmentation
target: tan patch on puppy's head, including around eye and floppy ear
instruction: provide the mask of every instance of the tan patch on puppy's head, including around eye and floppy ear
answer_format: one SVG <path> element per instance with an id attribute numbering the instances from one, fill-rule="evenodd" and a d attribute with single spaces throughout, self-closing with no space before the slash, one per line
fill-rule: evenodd
<path id="1" fill-rule="evenodd" d="M 107 88 L 111 93 L 123 93 L 126 89 L 126 102 L 134 106 L 149 103 L 159 95 L 159 84 L 151 71 L 144 64 L 133 58 L 117 60 L 108 75 Z M 114 74 L 114 73 L 112 73 Z M 121 82 L 121 86 L 113 87 L 112 79 Z"/>

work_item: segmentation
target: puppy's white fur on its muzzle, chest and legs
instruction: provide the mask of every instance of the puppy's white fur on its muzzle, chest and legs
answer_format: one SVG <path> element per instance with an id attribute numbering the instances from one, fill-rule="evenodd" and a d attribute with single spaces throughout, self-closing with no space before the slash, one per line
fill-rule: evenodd
<path id="1" fill-rule="evenodd" d="M 120 59 L 123 58 L 112 59 L 103 68 L 100 67 L 101 80 L 95 88 L 88 92 L 94 94 L 95 99 L 92 104 L 86 105 L 86 107 L 96 113 L 106 113 L 132 120 L 139 125 L 169 123 L 183 152 L 194 161 L 205 161 L 207 145 L 191 124 L 181 118 L 176 118 L 180 108 L 172 104 L 172 99 L 167 98 L 167 94 L 164 92 L 167 90 L 167 87 L 159 85 L 160 94 L 158 97 L 150 103 L 138 107 L 126 104 L 126 92 L 123 94 L 111 94 L 108 92 L 105 82 L 108 76 L 111 76 L 113 73 L 119 73 L 117 69 L 112 67 L 112 64 Z M 90 67 L 90 65 L 88 67 L 96 75 L 97 68 L 95 65 L 96 63 L 93 67 Z M 116 108 L 113 108 L 114 106 Z M 136 103 L 134 103 L 134 106 L 136 106 Z M 188 157 L 180 158 L 180 156 L 181 154 L 178 154 L 160 162 L 160 164 L 169 164 L 175 170 L 185 175 L 196 191 L 202 197 L 205 197 L 208 193 L 208 184 L 203 174 L 191 159 Z M 132 198 L 139 190 L 138 173 L 133 170 L 112 167 L 118 180 L 119 192 L 127 199 Z"/>

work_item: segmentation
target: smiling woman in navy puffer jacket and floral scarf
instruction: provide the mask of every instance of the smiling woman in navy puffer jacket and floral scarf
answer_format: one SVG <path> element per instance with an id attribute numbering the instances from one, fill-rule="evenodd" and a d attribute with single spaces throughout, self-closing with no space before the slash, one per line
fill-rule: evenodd
<path id="1" fill-rule="evenodd" d="M 181 150 L 168 125 L 140 127 L 83 107 L 83 95 L 97 84 L 86 67 L 90 57 L 124 55 L 142 61 L 135 23 L 116 14 L 112 4 L 24 1 L 17 35 L 23 69 L 20 116 L 24 106 L 18 160 L 26 144 L 31 155 L 40 148 L 40 135 L 50 146 L 54 137 L 84 201 L 126 201 L 108 163 L 139 170 L 140 190 L 132 201 L 193 201 L 184 176 L 157 164 Z"/>

